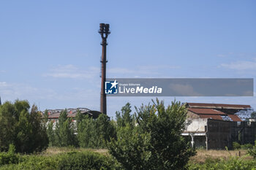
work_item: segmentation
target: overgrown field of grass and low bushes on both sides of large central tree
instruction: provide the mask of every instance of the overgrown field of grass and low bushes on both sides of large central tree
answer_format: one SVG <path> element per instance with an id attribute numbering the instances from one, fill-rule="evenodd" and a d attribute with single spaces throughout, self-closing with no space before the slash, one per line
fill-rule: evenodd
<path id="1" fill-rule="evenodd" d="M 240 157 L 239 157 L 240 151 Z M 5 162 L 3 162 L 5 159 Z M 256 169 L 246 150 L 197 150 L 188 169 Z M 0 169 L 121 169 L 108 150 L 49 147 L 39 154 L 0 154 Z"/>

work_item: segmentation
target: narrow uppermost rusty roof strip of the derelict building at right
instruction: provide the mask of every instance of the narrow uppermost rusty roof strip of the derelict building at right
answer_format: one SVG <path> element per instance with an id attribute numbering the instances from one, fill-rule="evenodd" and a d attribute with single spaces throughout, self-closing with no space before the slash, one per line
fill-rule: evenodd
<path id="1" fill-rule="evenodd" d="M 218 108 L 218 109 L 250 109 L 250 105 L 244 104 L 205 104 L 205 103 L 187 103 L 188 107 L 197 108 Z"/>

